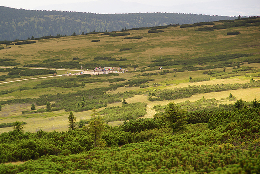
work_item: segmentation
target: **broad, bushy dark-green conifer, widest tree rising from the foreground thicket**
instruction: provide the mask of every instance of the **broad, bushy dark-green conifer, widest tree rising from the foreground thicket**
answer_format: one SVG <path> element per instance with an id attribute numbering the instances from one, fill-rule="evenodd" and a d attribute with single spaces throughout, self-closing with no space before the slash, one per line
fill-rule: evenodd
<path id="1" fill-rule="evenodd" d="M 168 123 L 168 127 L 172 128 L 173 134 L 174 132 L 186 129 L 185 124 L 187 124 L 187 118 L 185 111 L 174 102 L 167 104 L 162 118 Z"/>

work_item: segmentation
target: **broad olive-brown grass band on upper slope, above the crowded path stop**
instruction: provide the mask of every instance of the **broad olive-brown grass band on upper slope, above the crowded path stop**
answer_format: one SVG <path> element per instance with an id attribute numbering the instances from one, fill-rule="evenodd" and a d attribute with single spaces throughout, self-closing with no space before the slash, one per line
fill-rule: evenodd
<path id="1" fill-rule="evenodd" d="M 60 58 L 72 61 L 73 57 L 92 60 L 95 56 L 127 58 L 127 63 L 149 64 L 157 58 L 173 57 L 190 59 L 198 56 L 256 53 L 259 50 L 259 26 L 239 27 L 212 32 L 195 32 L 194 28 L 169 27 L 163 33 L 148 33 L 148 30 L 129 31 L 132 36 L 143 39 L 131 40 L 124 37 L 102 36 L 101 34 L 62 37 L 37 40 L 34 44 L 13 45 L 11 49 L 1 50 L 0 58 L 14 58 L 21 65 L 39 63 L 42 60 Z M 239 30 L 239 35 L 226 33 Z M 91 40 L 100 39 L 92 43 Z M 257 45 L 257 46 L 254 46 Z M 119 51 L 123 47 L 132 47 L 129 51 Z M 79 67 L 80 68 L 80 67 Z M 87 67 L 85 67 L 87 68 Z"/>

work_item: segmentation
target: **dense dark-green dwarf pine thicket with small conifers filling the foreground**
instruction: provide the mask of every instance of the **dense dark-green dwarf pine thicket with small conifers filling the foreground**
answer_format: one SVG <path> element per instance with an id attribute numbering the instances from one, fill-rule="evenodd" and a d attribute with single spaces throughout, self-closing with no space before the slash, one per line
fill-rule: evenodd
<path id="1" fill-rule="evenodd" d="M 206 99 L 197 102 L 210 103 Z M 23 133 L 18 122 L 13 131 L 0 135 L 0 162 L 29 161 L 0 164 L 0 171 L 258 173 L 259 108 L 256 99 L 194 111 L 172 102 L 155 118 L 132 119 L 115 127 L 103 124 L 103 118 L 93 110 L 91 120 L 82 128 L 73 126 L 70 112 L 70 130 L 66 132 Z"/>

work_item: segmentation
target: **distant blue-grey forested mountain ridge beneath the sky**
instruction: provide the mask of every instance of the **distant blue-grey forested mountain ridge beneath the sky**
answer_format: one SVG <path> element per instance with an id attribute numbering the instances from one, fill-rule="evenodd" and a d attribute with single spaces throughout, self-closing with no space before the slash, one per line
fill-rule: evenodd
<path id="1" fill-rule="evenodd" d="M 72 35 L 95 30 L 189 24 L 233 20 L 237 17 L 182 13 L 95 14 L 83 12 L 39 11 L 0 6 L 0 40 L 24 40 L 34 36 Z"/>

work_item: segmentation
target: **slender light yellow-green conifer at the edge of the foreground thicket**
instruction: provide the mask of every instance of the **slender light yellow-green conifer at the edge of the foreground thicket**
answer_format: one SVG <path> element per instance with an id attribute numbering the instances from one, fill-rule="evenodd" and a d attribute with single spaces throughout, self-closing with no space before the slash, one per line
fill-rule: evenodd
<path id="1" fill-rule="evenodd" d="M 104 122 L 102 118 L 96 113 L 96 109 L 93 109 L 92 119 L 89 122 L 89 131 L 94 138 L 94 145 L 96 146 L 101 139 L 102 132 L 104 130 Z"/>

